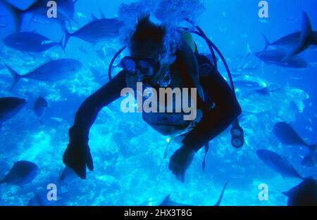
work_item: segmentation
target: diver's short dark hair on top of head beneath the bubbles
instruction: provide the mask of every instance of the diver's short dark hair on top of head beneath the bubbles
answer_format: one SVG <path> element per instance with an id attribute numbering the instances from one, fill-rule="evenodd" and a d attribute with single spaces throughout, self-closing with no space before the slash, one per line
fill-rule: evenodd
<path id="1" fill-rule="evenodd" d="M 146 41 L 152 41 L 158 46 L 163 46 L 166 36 L 166 27 L 156 25 L 149 20 L 149 15 L 139 18 L 135 32 L 132 34 L 131 42 L 142 44 Z"/>

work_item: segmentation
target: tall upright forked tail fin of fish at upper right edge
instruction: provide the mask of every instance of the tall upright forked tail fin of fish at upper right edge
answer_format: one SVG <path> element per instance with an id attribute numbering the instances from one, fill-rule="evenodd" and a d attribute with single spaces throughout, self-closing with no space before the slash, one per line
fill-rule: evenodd
<path id="1" fill-rule="evenodd" d="M 303 19 L 302 19 L 302 32 L 301 32 L 301 39 L 299 40 L 299 44 L 292 49 L 283 60 L 288 60 L 293 56 L 297 55 L 304 51 L 307 46 L 311 43 L 311 41 L 315 41 L 313 37 L 313 29 L 311 27 L 311 21 L 309 20 L 309 16 L 305 11 L 303 11 Z"/>

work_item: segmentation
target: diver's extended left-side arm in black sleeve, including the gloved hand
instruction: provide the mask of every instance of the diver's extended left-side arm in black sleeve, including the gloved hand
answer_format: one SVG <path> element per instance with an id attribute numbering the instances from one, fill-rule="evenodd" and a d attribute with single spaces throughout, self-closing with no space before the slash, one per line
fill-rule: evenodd
<path id="1" fill-rule="evenodd" d="M 69 129 L 69 143 L 63 154 L 63 163 L 82 179 L 86 179 L 86 166 L 90 171 L 94 169 L 88 145 L 89 129 L 101 108 L 118 99 L 124 87 L 125 72 L 120 72 L 111 82 L 89 96 L 77 111 L 74 125 Z"/>

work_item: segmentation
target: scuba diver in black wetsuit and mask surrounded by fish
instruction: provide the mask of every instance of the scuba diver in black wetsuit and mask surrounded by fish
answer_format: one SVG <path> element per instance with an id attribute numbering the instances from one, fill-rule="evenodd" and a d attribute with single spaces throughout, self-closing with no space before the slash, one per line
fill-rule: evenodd
<path id="1" fill-rule="evenodd" d="M 63 155 L 63 163 L 72 168 L 80 178 L 86 179 L 86 167 L 90 171 L 94 169 L 88 141 L 89 129 L 98 113 L 120 98 L 122 89 L 135 89 L 137 82 L 152 88 L 189 88 L 189 91 L 190 88 L 197 88 L 197 117 L 192 121 L 185 121 L 180 117 L 184 112 L 142 112 L 144 121 L 153 129 L 180 143 L 181 147 L 170 157 L 169 162 L 169 169 L 178 180 L 185 181 L 185 172 L 195 153 L 204 146 L 206 153 L 206 143 L 225 131 L 230 124 L 233 123 L 232 145 L 237 148 L 243 145 L 243 130 L 237 121 L 242 110 L 235 96 L 235 89 L 232 88 L 233 84 L 230 88 L 216 69 L 213 48 L 217 52 L 218 48 L 210 40 L 207 41 L 202 31 L 198 32 L 211 48 L 214 58 L 211 62 L 206 56 L 199 54 L 190 32 L 178 30 L 178 33 L 178 44 L 172 50 L 165 26 L 154 24 L 149 16 L 138 19 L 130 37 L 130 56 L 121 60 L 123 70 L 82 103 L 77 110 L 73 127 L 69 129 L 69 143 Z M 112 64 L 113 62 L 109 67 L 110 72 Z M 225 66 L 228 71 L 226 63 Z"/>

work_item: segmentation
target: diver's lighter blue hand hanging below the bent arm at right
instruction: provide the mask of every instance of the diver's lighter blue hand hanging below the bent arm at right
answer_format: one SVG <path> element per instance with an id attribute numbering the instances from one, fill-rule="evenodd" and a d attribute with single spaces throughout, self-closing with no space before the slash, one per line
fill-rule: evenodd
<path id="1" fill-rule="evenodd" d="M 192 148 L 183 145 L 170 157 L 168 168 L 175 174 L 176 178 L 182 182 L 185 181 L 185 172 L 192 163 L 195 151 Z"/>

